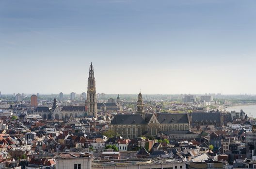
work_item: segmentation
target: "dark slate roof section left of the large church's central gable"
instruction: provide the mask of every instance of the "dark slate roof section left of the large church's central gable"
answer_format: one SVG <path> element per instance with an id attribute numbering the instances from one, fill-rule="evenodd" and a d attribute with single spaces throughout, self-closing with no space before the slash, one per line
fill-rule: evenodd
<path id="1" fill-rule="evenodd" d="M 140 114 L 116 114 L 112 125 L 146 124 Z"/>

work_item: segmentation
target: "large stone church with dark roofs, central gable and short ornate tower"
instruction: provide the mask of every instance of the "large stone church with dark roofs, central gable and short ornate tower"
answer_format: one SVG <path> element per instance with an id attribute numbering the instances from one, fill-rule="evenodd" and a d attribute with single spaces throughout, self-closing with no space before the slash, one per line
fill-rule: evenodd
<path id="1" fill-rule="evenodd" d="M 137 101 L 137 112 L 115 115 L 110 129 L 127 139 L 141 136 L 154 137 L 163 131 L 169 133 L 190 132 L 190 121 L 187 113 L 145 113 L 140 92 Z"/>

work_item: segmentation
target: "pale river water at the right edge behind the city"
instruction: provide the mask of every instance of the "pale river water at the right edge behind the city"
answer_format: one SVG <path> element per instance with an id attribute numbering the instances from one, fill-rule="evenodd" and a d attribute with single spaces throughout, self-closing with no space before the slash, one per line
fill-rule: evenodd
<path id="1" fill-rule="evenodd" d="M 246 113 L 249 117 L 256 118 L 256 105 L 240 105 L 240 106 L 231 106 L 226 108 L 226 111 L 236 111 L 240 112 L 240 110 L 243 110 L 244 113 Z"/>

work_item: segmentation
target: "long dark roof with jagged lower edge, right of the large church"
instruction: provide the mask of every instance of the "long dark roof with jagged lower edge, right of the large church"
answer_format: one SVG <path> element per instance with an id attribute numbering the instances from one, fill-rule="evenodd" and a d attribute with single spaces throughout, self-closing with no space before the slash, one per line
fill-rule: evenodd
<path id="1" fill-rule="evenodd" d="M 202 120 L 204 122 L 206 122 L 206 120 L 208 122 L 210 122 L 210 120 L 212 122 L 214 122 L 214 120 L 216 120 L 217 123 L 220 123 L 221 121 L 221 113 L 220 112 L 192 112 L 192 123 L 196 123 L 197 122 L 201 122 Z"/>

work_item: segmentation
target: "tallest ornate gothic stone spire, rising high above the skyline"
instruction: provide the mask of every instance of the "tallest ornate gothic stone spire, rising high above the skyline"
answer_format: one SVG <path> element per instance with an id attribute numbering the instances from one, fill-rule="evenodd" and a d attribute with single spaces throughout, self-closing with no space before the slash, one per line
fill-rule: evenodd
<path id="1" fill-rule="evenodd" d="M 96 98 L 96 87 L 95 87 L 95 77 L 94 69 L 91 63 L 88 77 L 88 87 L 87 87 L 87 114 L 97 117 L 97 98 Z"/>

